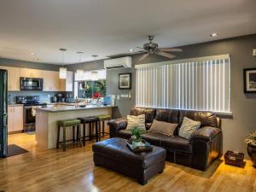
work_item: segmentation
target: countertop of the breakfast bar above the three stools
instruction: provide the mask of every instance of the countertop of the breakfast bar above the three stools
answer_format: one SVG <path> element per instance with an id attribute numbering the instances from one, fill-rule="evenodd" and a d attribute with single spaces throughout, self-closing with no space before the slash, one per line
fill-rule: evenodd
<path id="1" fill-rule="evenodd" d="M 38 110 L 46 112 L 65 112 L 65 111 L 77 111 L 77 110 L 86 110 L 86 109 L 96 109 L 96 108 L 115 108 L 116 106 L 94 106 L 88 105 L 85 108 L 75 108 L 75 106 L 53 106 L 47 108 L 38 108 Z"/>

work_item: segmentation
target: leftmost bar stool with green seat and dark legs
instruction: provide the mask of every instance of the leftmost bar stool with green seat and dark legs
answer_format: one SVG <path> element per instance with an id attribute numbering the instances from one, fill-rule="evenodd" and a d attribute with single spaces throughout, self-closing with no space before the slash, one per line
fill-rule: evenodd
<path id="1" fill-rule="evenodd" d="M 61 143 L 60 142 L 60 134 L 61 134 L 61 128 L 62 128 L 63 129 L 63 142 L 62 142 L 63 151 L 66 151 L 66 129 L 68 127 L 72 127 L 73 143 L 75 143 L 75 128 L 77 128 L 77 132 L 79 132 L 79 134 L 77 135 L 77 140 L 79 140 L 79 145 L 80 145 L 80 147 L 82 147 L 81 131 L 80 131 L 80 120 L 79 119 L 59 120 L 58 121 L 56 148 L 59 148 L 59 145 Z"/>

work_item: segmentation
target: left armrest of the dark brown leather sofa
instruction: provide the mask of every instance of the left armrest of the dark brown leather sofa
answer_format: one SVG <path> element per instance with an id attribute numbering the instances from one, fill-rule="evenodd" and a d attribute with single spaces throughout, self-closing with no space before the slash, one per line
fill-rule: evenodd
<path id="1" fill-rule="evenodd" d="M 109 136 L 117 137 L 117 132 L 119 130 L 125 130 L 127 126 L 127 119 L 126 118 L 111 119 L 108 121 L 108 125 L 109 125 Z"/>

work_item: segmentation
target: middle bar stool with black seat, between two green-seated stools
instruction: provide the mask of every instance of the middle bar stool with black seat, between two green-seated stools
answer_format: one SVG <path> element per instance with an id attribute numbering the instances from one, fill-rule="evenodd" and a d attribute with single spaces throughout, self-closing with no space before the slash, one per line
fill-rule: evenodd
<path id="1" fill-rule="evenodd" d="M 98 142 L 98 121 L 99 119 L 95 116 L 89 116 L 89 117 L 84 117 L 84 118 L 78 118 L 81 122 L 81 124 L 83 124 L 83 145 L 85 146 L 85 128 L 86 128 L 86 124 L 89 124 L 89 137 L 90 137 L 90 141 L 92 140 L 92 129 L 93 129 L 93 125 L 95 125 L 96 127 L 96 142 Z"/>

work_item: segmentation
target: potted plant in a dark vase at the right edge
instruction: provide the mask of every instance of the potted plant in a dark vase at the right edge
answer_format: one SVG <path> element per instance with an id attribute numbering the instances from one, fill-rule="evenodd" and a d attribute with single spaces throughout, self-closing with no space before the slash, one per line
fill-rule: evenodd
<path id="1" fill-rule="evenodd" d="M 247 152 L 253 162 L 253 166 L 256 167 L 256 131 L 247 135 L 245 143 L 247 143 Z"/>

